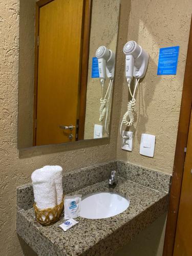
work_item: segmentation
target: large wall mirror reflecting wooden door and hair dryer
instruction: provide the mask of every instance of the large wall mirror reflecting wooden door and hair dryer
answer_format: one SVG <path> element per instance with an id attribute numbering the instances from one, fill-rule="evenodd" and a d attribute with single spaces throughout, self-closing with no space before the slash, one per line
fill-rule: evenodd
<path id="1" fill-rule="evenodd" d="M 109 137 L 119 5 L 20 0 L 18 148 Z"/>

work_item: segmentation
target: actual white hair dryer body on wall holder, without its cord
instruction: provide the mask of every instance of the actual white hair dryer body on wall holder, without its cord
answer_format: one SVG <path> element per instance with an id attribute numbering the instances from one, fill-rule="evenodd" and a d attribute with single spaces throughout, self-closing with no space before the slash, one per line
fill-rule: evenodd
<path id="1" fill-rule="evenodd" d="M 123 52 L 126 54 L 126 79 L 131 84 L 133 77 L 140 79 L 145 76 L 149 56 L 135 41 L 126 42 Z"/>

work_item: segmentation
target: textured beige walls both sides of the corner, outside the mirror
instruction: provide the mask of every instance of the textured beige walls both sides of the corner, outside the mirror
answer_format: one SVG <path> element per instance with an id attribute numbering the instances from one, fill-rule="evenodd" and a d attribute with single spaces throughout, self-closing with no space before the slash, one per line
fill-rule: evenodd
<path id="1" fill-rule="evenodd" d="M 176 3 L 177 2 L 177 3 Z M 130 1 L 121 0 L 120 29 L 118 36 L 118 57 L 114 87 L 111 139 L 104 141 L 83 141 L 68 145 L 17 150 L 17 93 L 18 93 L 18 28 L 19 1 L 0 2 L 0 250 L 1 255 L 22 255 L 15 231 L 16 186 L 30 182 L 35 168 L 45 164 L 60 164 L 65 172 L 105 162 L 116 156 L 142 166 L 167 173 L 173 168 L 174 148 L 179 117 L 191 1 L 132 1 L 129 23 Z M 124 77 L 124 56 L 122 47 L 127 40 L 135 39 L 151 56 L 150 66 L 138 92 L 140 104 L 137 133 L 132 153 L 120 150 L 116 145 L 120 122 L 119 102 L 122 98 L 122 113 L 126 108 Z M 180 45 L 177 76 L 157 77 L 158 48 Z M 141 97 L 141 94 L 144 97 Z M 163 104 L 164 105 L 163 105 Z M 144 104 L 143 109 L 141 105 Z M 137 109 L 138 111 L 138 109 Z M 138 154 L 140 133 L 157 136 L 154 159 Z M 166 142 L 166 144 L 165 144 Z M 117 150 L 118 146 L 118 150 Z M 162 148 L 161 148 L 162 147 Z M 75 159 L 75 160 L 74 160 Z M 142 239 L 142 238 L 141 238 Z M 27 249 L 26 249 L 27 250 Z M 26 255 L 29 255 L 27 250 Z"/>

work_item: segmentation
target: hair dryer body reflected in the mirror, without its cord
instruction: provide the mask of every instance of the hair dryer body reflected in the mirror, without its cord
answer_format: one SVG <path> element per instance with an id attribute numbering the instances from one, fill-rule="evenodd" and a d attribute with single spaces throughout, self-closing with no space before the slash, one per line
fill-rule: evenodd
<path id="1" fill-rule="evenodd" d="M 95 55 L 98 58 L 99 78 L 103 80 L 103 83 L 106 79 L 106 76 L 110 79 L 113 79 L 115 69 L 115 53 L 113 53 L 112 50 L 109 50 L 105 46 L 100 46 L 97 49 Z"/>

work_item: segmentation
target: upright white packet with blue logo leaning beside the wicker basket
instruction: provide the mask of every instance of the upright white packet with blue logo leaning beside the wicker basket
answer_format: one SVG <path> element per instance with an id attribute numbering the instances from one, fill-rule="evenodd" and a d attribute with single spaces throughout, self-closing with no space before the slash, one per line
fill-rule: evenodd
<path id="1" fill-rule="evenodd" d="M 81 196 L 66 196 L 64 201 L 65 220 L 75 219 L 80 216 Z"/>

